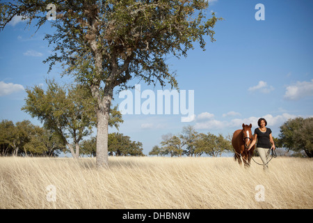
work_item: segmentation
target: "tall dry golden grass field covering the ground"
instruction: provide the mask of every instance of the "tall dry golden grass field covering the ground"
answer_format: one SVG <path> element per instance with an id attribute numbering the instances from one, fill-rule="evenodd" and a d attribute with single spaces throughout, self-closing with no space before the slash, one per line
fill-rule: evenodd
<path id="1" fill-rule="evenodd" d="M 232 157 L 109 157 L 106 169 L 94 158 L 0 157 L 0 208 L 313 208 L 312 173 L 312 159 L 294 157 L 268 171 Z"/>

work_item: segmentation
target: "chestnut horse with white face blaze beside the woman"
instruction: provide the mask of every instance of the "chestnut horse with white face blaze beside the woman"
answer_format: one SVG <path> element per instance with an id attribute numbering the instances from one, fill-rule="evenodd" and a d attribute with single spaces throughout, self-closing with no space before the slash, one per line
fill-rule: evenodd
<path id="1" fill-rule="evenodd" d="M 250 160 L 255 150 L 255 146 L 252 146 L 250 151 L 248 148 L 253 140 L 251 132 L 252 125 L 242 124 L 242 130 L 236 130 L 232 136 L 232 147 L 234 147 L 234 160 L 238 160 L 241 165 L 241 157 L 245 167 L 250 167 Z M 251 155 L 250 155 L 251 154 Z"/>

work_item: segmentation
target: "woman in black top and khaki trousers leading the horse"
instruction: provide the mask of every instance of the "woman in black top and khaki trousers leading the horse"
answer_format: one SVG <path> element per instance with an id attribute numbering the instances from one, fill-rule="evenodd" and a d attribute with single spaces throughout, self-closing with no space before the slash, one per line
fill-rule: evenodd
<path id="1" fill-rule="evenodd" d="M 271 153 L 270 148 L 275 150 L 272 131 L 270 128 L 266 128 L 267 122 L 264 118 L 259 118 L 257 125 L 259 125 L 259 128 L 255 129 L 255 138 L 250 144 L 248 151 L 250 151 L 250 148 L 252 148 L 252 146 L 254 146 L 257 142 L 257 152 L 259 153 L 259 157 L 261 157 L 263 162 L 263 169 L 268 169 L 267 164 L 269 154 Z"/>

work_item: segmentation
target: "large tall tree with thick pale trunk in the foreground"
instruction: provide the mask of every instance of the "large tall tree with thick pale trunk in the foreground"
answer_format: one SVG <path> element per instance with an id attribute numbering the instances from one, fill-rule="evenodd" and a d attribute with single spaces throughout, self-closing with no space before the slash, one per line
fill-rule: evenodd
<path id="1" fill-rule="evenodd" d="M 204 49 L 204 38 L 214 41 L 212 28 L 221 20 L 214 13 L 207 17 L 207 0 L 18 0 L 0 6 L 0 28 L 22 15 L 38 29 L 47 21 L 48 6 L 56 28 L 46 36 L 55 52 L 47 59 L 50 68 L 63 63 L 64 74 L 90 87 L 97 102 L 97 167 L 108 164 L 115 87 L 125 89 L 134 78 L 177 87 L 166 55 L 186 56 L 194 42 Z"/>

